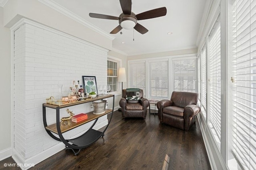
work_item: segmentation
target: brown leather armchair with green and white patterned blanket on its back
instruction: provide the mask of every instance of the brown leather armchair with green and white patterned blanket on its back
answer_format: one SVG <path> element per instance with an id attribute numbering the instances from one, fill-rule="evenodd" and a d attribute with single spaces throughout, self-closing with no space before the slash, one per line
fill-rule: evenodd
<path id="1" fill-rule="evenodd" d="M 132 92 L 127 92 L 126 89 L 122 91 L 122 98 L 119 101 L 119 106 L 122 110 L 122 117 L 125 119 L 126 117 L 143 117 L 146 119 L 147 115 L 147 107 L 149 106 L 149 101 L 147 98 L 143 98 L 143 90 L 139 89 L 139 97 L 136 100 L 128 100 L 128 98 L 132 98 L 134 96 L 131 94 Z"/>

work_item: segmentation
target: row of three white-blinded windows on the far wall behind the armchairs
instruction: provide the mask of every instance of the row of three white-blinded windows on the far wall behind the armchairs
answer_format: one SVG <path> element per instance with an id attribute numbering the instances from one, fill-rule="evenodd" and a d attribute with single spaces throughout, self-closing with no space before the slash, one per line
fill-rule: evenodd
<path id="1" fill-rule="evenodd" d="M 170 99 L 174 90 L 197 92 L 197 70 L 194 55 L 128 61 L 128 87 L 143 89 L 149 99 Z"/>

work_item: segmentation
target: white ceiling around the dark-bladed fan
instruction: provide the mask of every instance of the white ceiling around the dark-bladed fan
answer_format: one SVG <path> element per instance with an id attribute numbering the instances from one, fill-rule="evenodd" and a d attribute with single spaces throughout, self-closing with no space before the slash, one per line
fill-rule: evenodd
<path id="1" fill-rule="evenodd" d="M 8 0 L 0 0 L 5 4 Z M 40 0 L 41 2 L 44 0 Z M 118 20 L 90 18 L 89 13 L 119 16 L 122 13 L 119 0 L 47 0 L 55 2 L 63 10 L 80 16 L 89 23 L 110 33 Z M 132 0 L 132 12 L 140 14 L 155 8 L 166 7 L 167 14 L 159 18 L 139 20 L 149 31 L 140 34 L 134 29 L 122 29 L 111 34 L 113 50 L 124 55 L 139 55 L 180 49 L 195 48 L 200 23 L 207 0 Z M 66 9 L 65 9 L 66 8 Z M 167 35 L 172 32 L 171 35 Z M 109 34 L 110 35 L 110 34 Z M 133 41 L 134 37 L 134 41 Z M 122 42 L 125 42 L 124 44 Z"/>

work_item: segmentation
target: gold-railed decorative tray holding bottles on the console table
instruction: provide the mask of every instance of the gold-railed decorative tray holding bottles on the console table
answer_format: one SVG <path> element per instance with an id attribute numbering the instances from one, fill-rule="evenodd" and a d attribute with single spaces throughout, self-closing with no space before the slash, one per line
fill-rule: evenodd
<path id="1" fill-rule="evenodd" d="M 63 105 L 67 105 L 67 104 L 73 104 L 73 103 L 79 103 L 79 102 L 84 102 L 86 100 L 92 100 L 92 97 L 79 97 L 79 98 L 69 98 L 69 99 L 65 99 L 65 100 L 54 100 L 54 97 L 51 96 L 50 98 L 46 99 L 46 103 L 47 104 L 52 104 L 52 105 L 56 105 L 56 106 L 63 106 Z"/>

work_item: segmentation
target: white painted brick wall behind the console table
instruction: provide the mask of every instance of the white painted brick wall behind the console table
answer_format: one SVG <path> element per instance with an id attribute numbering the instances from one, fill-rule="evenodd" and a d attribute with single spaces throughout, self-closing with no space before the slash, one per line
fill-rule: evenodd
<path id="1" fill-rule="evenodd" d="M 27 159 L 58 144 L 44 129 L 46 98 L 62 96 L 61 87 L 68 91 L 73 80 L 82 84 L 82 76 L 96 76 L 98 85 L 106 84 L 107 51 L 38 24 L 24 23 L 14 35 L 14 148 Z M 90 104 L 70 110 L 92 111 Z M 48 125 L 55 123 L 55 110 L 46 111 Z M 60 110 L 60 117 L 67 115 L 66 109 Z M 63 135 L 70 138 L 89 127 L 88 123 Z"/>

